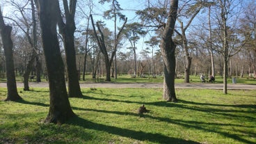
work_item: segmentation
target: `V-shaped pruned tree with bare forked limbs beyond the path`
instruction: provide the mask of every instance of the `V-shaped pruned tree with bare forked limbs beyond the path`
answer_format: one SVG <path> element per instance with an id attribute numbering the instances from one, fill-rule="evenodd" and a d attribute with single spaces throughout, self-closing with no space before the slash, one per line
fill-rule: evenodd
<path id="1" fill-rule="evenodd" d="M 116 46 L 114 46 L 114 49 L 111 51 L 111 56 L 109 58 L 109 53 L 106 49 L 106 44 L 105 44 L 105 40 L 104 40 L 104 33 L 100 29 L 99 22 L 96 22 L 97 29 L 99 31 L 99 35 L 97 35 L 96 29 L 95 29 L 95 24 L 93 22 L 93 15 L 90 15 L 90 18 L 91 18 L 91 22 L 93 24 L 93 31 L 95 33 L 95 38 L 97 40 L 97 44 L 99 45 L 100 51 L 104 55 L 104 62 L 105 62 L 105 67 L 106 67 L 106 81 L 111 81 L 110 70 L 111 70 L 111 64 L 113 63 L 113 58 L 117 51 L 117 44 L 116 44 Z M 122 24 L 122 27 L 121 27 L 120 31 L 118 32 L 117 40 L 119 40 L 122 29 L 124 29 L 126 22 L 127 22 L 127 18 L 125 19 L 124 24 Z"/>

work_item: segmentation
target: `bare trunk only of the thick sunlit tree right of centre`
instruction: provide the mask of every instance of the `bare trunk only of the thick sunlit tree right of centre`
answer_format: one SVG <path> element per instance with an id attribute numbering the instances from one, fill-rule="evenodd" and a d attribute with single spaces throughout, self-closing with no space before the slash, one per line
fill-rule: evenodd
<path id="1" fill-rule="evenodd" d="M 177 102 L 175 94 L 175 48 L 173 42 L 173 31 L 177 18 L 178 0 L 171 0 L 168 22 L 161 38 L 161 54 L 164 63 L 163 99 L 170 102 Z"/>

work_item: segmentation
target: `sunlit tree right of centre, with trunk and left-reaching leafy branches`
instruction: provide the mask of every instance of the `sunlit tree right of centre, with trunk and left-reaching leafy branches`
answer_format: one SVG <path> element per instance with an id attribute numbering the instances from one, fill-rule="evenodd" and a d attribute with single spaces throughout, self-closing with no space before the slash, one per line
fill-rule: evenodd
<path id="1" fill-rule="evenodd" d="M 160 4 L 159 8 L 156 7 L 156 4 L 151 4 L 153 7 L 148 6 L 145 10 L 136 12 L 144 26 L 157 30 L 161 37 L 160 49 L 164 65 L 163 99 L 170 102 L 177 102 L 175 94 L 176 44 L 173 41 L 173 32 L 175 30 L 178 2 L 178 0 L 170 0 L 169 8 L 167 8 L 167 1 Z"/>

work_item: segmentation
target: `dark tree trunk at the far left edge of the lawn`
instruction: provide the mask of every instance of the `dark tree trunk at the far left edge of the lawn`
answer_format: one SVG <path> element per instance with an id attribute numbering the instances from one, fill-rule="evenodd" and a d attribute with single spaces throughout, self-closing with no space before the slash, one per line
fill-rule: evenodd
<path id="1" fill-rule="evenodd" d="M 17 101 L 22 99 L 17 93 L 17 85 L 13 64 L 13 40 L 11 37 L 12 26 L 8 26 L 3 21 L 0 7 L 0 33 L 3 42 L 4 55 L 6 57 L 6 77 L 7 77 L 7 98 L 6 101 Z"/>

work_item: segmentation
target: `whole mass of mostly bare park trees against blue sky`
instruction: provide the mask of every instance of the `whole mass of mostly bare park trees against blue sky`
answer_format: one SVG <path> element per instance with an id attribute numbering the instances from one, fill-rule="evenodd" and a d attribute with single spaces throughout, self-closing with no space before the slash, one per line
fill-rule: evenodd
<path id="1" fill-rule="evenodd" d="M 105 81 L 124 73 L 163 74 L 163 99 L 171 102 L 177 102 L 174 83 L 179 75 L 189 83 L 191 74 L 218 74 L 227 93 L 227 77 L 256 72 L 254 1 L 147 0 L 144 9 L 136 10 L 141 22 L 132 23 L 117 0 L 99 3 L 111 3 L 102 17 L 112 20 L 113 31 L 102 21 L 94 22 L 95 4 L 89 0 L 0 3 L 17 13 L 0 15 L 0 70 L 8 80 L 7 100 L 21 99 L 15 73 L 24 77 L 24 90 L 29 90 L 31 72 L 38 82 L 45 75 L 50 89 L 46 121 L 62 123 L 74 115 L 68 97 L 83 97 L 80 72 L 83 80 L 88 72 Z M 81 17 L 85 23 L 76 24 Z M 137 54 L 138 41 L 149 34 L 147 47 Z"/>

